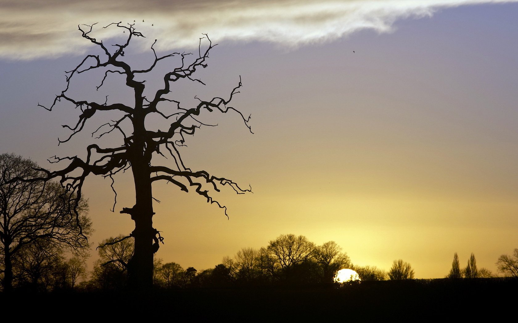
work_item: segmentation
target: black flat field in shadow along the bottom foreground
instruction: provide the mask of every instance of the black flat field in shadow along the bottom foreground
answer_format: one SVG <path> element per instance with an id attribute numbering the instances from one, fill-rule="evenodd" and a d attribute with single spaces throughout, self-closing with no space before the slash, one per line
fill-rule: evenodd
<path id="1" fill-rule="evenodd" d="M 5 312 L 22 317 L 145 320 L 293 321 L 496 319 L 515 313 L 516 279 L 362 282 L 337 287 L 113 291 L 0 295 Z M 135 319 L 139 319 L 134 317 Z"/>

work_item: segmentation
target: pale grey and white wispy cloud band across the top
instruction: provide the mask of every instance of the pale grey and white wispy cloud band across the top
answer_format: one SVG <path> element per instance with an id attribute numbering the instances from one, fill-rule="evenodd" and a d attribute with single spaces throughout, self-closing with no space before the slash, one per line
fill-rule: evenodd
<path id="1" fill-rule="evenodd" d="M 0 0 L 0 57 L 80 54 L 89 45 L 77 31 L 83 23 L 135 20 L 138 31 L 159 39 L 163 50 L 194 47 L 202 33 L 216 41 L 297 46 L 361 29 L 389 32 L 398 19 L 431 16 L 441 8 L 505 2 L 518 0 Z M 99 28 L 96 35 L 107 33 Z"/>

